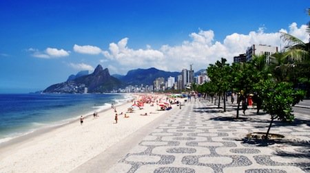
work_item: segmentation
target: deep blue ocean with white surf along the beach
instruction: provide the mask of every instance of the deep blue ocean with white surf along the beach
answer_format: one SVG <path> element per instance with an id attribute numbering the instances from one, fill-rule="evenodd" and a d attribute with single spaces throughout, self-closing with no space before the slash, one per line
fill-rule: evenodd
<path id="1" fill-rule="evenodd" d="M 66 124 L 132 97 L 126 94 L 0 94 L 0 143 L 46 126 Z"/>

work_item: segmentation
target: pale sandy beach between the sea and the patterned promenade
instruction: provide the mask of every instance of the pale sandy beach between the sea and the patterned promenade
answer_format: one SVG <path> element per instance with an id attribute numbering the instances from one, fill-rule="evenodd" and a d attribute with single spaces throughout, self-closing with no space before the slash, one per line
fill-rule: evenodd
<path id="1" fill-rule="evenodd" d="M 117 106 L 116 111 L 125 113 L 131 105 Z M 109 109 L 99 113 L 98 119 L 85 118 L 83 126 L 77 120 L 5 150 L 0 148 L 0 172 L 70 172 L 166 112 L 156 108 L 156 103 L 145 104 L 143 110 L 127 113 L 129 118 L 118 115 L 118 124 L 114 110 Z M 148 115 L 141 116 L 143 113 Z"/>

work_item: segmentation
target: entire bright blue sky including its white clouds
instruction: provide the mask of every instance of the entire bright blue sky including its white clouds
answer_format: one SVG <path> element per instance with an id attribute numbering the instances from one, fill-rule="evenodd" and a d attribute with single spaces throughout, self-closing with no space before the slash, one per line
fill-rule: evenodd
<path id="1" fill-rule="evenodd" d="M 101 64 L 110 73 L 205 69 L 251 44 L 309 40 L 309 1 L 0 1 L 0 93 L 25 93 Z"/>

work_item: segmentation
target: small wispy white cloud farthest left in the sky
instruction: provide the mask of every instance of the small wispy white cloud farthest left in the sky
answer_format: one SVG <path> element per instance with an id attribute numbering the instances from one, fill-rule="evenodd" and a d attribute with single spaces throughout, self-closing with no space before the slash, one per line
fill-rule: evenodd
<path id="1" fill-rule="evenodd" d="M 61 58 L 64 56 L 69 56 L 70 51 L 65 51 L 64 49 L 56 49 L 48 47 L 44 51 L 39 51 L 39 49 L 29 48 L 28 51 L 32 52 L 32 56 L 36 58 Z"/>

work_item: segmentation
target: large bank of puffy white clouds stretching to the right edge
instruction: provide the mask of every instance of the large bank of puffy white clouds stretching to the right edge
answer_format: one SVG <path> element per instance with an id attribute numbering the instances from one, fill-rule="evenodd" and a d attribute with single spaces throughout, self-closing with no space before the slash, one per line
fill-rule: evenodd
<path id="1" fill-rule="evenodd" d="M 289 30 L 281 29 L 300 38 L 304 42 L 309 41 L 306 32 L 307 25 L 298 27 L 296 23 L 289 25 Z M 195 69 L 206 69 L 207 65 L 216 62 L 221 57 L 228 62 L 233 61 L 234 56 L 245 54 L 247 47 L 253 44 L 263 44 L 279 47 L 283 46 L 280 32 L 265 32 L 265 27 L 258 28 L 248 34 L 233 33 L 220 41 L 215 41 L 213 30 L 199 30 L 198 33 L 189 34 L 189 40 L 180 45 L 162 45 L 160 49 L 152 49 L 146 45 L 146 49 L 131 49 L 127 47 L 128 38 L 123 38 L 118 43 L 110 43 L 109 50 L 103 51 L 103 55 L 110 60 L 118 62 L 128 69 L 156 67 L 169 71 L 180 71 L 194 64 Z"/>

